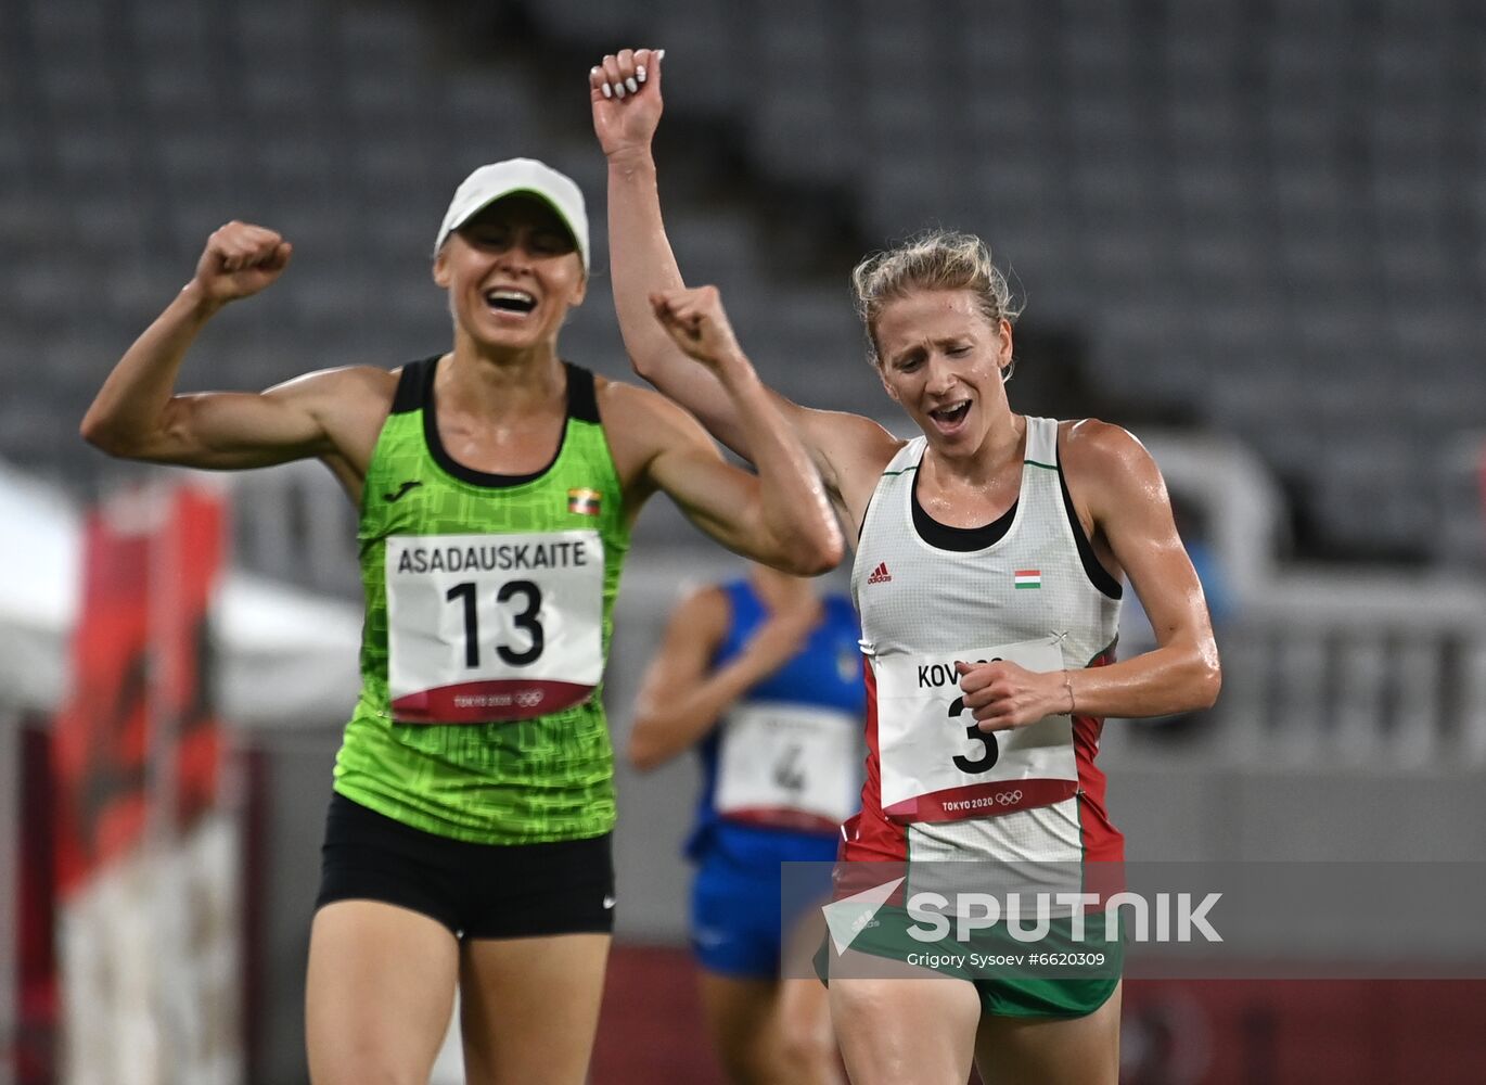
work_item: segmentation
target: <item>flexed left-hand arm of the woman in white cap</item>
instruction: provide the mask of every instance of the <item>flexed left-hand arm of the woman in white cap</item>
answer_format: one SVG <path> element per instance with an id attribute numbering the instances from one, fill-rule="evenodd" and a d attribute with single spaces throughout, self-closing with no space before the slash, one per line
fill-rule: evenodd
<path id="1" fill-rule="evenodd" d="M 181 395 L 186 352 L 224 305 L 269 287 L 290 245 L 273 230 L 227 223 L 207 241 L 196 273 L 123 354 L 83 416 L 82 435 L 113 456 L 184 467 L 265 467 L 333 456 L 334 416 L 361 401 L 366 375 L 315 373 L 266 392 Z"/>

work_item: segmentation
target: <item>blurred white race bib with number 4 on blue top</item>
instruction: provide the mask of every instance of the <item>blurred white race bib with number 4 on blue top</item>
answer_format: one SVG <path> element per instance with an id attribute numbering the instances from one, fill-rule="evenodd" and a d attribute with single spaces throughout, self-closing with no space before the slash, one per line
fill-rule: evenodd
<path id="1" fill-rule="evenodd" d="M 753 702 L 730 712 L 718 749 L 718 813 L 773 828 L 834 832 L 862 794 L 860 719 Z"/>

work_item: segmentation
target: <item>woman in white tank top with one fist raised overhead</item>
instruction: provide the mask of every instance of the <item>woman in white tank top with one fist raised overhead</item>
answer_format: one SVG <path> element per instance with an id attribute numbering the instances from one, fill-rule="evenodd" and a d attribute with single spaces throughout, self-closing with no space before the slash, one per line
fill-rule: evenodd
<path id="1" fill-rule="evenodd" d="M 649 297 L 682 284 L 651 155 L 660 64 L 652 51 L 623 51 L 590 74 L 609 163 L 620 326 L 636 372 L 746 458 L 721 386 L 651 323 Z M 1161 473 L 1119 427 L 1012 412 L 1005 376 L 1016 312 L 979 239 L 933 235 L 878 254 L 853 285 L 875 376 L 923 435 L 902 441 L 871 419 L 779 397 L 847 538 L 857 540 L 853 584 L 872 660 L 869 758 L 843 858 L 901 858 L 909 838 L 915 859 L 921 846 L 933 858 L 979 858 L 1009 837 L 1021 841 L 1024 829 L 1034 856 L 1119 859 L 1092 765 L 1100 721 L 1205 707 L 1220 685 L 1202 589 Z M 1156 647 L 1114 663 L 1122 577 L 1150 615 Z M 970 654 L 1003 647 L 1013 651 Z M 951 727 L 944 716 L 924 719 L 935 702 L 914 688 L 918 675 L 929 676 L 918 685 L 947 679 Z M 880 713 L 889 703 L 892 713 Z M 929 743 L 941 760 L 923 742 L 902 742 L 930 734 L 926 727 L 941 728 Z M 1034 731 L 1055 736 L 1049 757 L 1018 734 Z M 1114 1085 L 1117 981 L 1089 1003 L 1002 1012 L 978 984 L 938 975 L 831 984 L 832 1020 L 859 1085 L 961 1085 L 972 1060 L 988 1082 Z"/>

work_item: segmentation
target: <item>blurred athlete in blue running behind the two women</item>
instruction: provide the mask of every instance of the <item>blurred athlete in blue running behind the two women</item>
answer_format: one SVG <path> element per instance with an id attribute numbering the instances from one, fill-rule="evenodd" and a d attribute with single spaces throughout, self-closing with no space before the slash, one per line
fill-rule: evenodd
<path id="1" fill-rule="evenodd" d="M 764 566 L 690 596 L 645 676 L 630 761 L 701 757 L 691 941 L 733 1082 L 844 1081 L 823 988 L 779 975 L 785 938 L 820 936 L 780 929 L 780 871 L 835 859 L 860 797 L 863 707 L 850 600 Z M 795 895 L 792 911 L 819 923 L 817 901 Z"/>

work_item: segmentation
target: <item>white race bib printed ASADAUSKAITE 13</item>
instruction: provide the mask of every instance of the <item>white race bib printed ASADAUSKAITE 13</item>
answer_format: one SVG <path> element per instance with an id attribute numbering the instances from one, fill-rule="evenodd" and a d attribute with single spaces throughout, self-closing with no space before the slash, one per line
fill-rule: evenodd
<path id="1" fill-rule="evenodd" d="M 386 540 L 388 691 L 412 724 L 529 719 L 603 675 L 597 531 Z"/>

